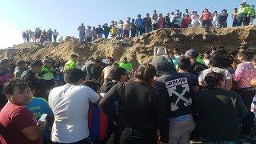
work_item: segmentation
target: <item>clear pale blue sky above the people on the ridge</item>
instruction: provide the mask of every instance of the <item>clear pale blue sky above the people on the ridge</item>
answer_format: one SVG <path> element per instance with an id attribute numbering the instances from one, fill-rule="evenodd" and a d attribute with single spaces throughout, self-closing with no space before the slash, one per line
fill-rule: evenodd
<path id="1" fill-rule="evenodd" d="M 22 31 L 56 29 L 60 35 L 78 37 L 78 26 L 110 23 L 111 20 L 125 20 L 137 14 L 166 15 L 168 12 L 188 8 L 198 11 L 204 7 L 211 12 L 223 9 L 231 15 L 241 0 L 0 0 L 0 48 L 22 42 Z M 247 0 L 256 4 L 255 0 Z M 231 18 L 229 17 L 229 26 Z"/>

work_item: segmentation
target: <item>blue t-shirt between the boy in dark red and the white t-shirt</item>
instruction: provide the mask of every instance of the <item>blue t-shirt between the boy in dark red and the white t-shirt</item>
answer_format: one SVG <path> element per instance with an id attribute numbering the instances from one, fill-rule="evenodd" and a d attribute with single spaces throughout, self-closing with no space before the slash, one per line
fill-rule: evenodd
<path id="1" fill-rule="evenodd" d="M 42 114 L 54 115 L 48 102 L 44 98 L 32 98 L 31 102 L 26 105 L 26 108 L 34 115 L 34 118 L 39 120 Z M 50 138 L 50 126 L 46 124 L 46 130 L 43 138 Z"/>

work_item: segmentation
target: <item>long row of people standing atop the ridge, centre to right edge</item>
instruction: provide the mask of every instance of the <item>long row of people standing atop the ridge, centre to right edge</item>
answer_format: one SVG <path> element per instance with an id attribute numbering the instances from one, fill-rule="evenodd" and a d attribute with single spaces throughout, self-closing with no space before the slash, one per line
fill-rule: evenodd
<path id="1" fill-rule="evenodd" d="M 138 37 L 144 33 L 149 33 L 152 30 L 158 30 L 161 28 L 187 28 L 187 27 L 215 27 L 225 28 L 227 27 L 227 18 L 229 14 L 227 10 L 222 10 L 220 14 L 218 11 L 211 13 L 207 8 L 202 11 L 201 16 L 197 11 L 190 11 L 186 9 L 184 13 L 180 10 L 171 12 L 166 15 L 158 14 L 157 10 L 154 10 L 154 14 L 146 14 L 142 18 L 141 14 L 138 14 L 138 18 L 127 18 L 125 21 L 119 20 L 118 22 L 112 21 L 110 26 L 105 23 L 103 26 L 98 25 L 84 26 L 82 23 L 78 27 L 80 42 L 91 42 L 94 39 L 108 38 L 111 35 L 112 38 L 129 38 Z M 248 26 L 253 25 L 255 18 L 254 5 L 248 5 L 246 2 L 242 2 L 239 8 L 234 8 L 232 26 Z"/>

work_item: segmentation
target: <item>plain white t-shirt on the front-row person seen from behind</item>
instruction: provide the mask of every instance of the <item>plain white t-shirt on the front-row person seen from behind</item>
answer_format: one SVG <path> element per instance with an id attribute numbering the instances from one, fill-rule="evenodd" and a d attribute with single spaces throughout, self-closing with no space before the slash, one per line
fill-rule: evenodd
<path id="1" fill-rule="evenodd" d="M 89 102 L 97 102 L 99 95 L 88 86 L 66 84 L 50 91 L 49 105 L 54 112 L 50 139 L 72 143 L 87 138 Z"/>

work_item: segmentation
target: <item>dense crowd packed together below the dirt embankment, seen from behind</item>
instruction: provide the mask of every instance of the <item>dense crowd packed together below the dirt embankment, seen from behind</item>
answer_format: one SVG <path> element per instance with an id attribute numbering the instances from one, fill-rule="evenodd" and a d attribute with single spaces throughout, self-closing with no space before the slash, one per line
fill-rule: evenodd
<path id="1" fill-rule="evenodd" d="M 252 142 L 255 50 L 163 49 L 136 67 L 76 54 L 67 62 L 2 59 L 0 142 Z"/>

